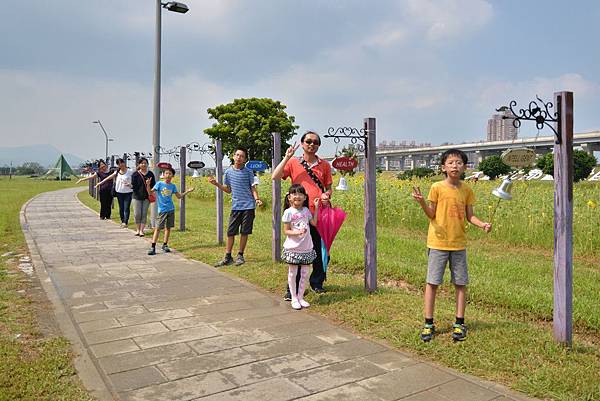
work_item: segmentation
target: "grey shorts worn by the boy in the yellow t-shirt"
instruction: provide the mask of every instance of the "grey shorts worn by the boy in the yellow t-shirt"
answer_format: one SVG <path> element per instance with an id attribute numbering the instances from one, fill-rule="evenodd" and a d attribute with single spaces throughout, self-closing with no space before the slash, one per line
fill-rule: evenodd
<path id="1" fill-rule="evenodd" d="M 429 258 L 427 260 L 427 283 L 440 285 L 444 282 L 444 271 L 446 264 L 450 264 L 450 282 L 455 285 L 469 284 L 469 272 L 467 270 L 467 250 L 442 251 L 439 249 L 427 249 Z"/>

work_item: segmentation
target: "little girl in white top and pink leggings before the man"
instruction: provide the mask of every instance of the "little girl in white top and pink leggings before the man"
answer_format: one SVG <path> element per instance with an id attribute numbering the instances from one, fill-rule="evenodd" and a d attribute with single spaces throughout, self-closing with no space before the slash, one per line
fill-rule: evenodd
<path id="1" fill-rule="evenodd" d="M 309 227 L 317 225 L 320 198 L 314 198 L 315 213 L 308 209 L 308 195 L 300 184 L 293 184 L 284 201 L 283 233 L 287 236 L 283 243 L 281 259 L 288 264 L 288 287 L 292 298 L 292 308 L 308 308 L 304 300 L 308 265 L 317 257 L 310 237 Z M 298 272 L 300 279 L 297 282 Z"/>

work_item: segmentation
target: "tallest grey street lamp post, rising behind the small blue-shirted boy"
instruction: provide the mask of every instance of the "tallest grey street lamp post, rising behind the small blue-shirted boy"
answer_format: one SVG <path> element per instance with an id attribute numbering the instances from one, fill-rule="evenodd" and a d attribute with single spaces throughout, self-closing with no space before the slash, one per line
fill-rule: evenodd
<path id="1" fill-rule="evenodd" d="M 188 12 L 188 6 L 176 1 L 162 3 L 156 0 L 156 41 L 154 49 L 155 67 L 154 67 L 154 113 L 152 122 L 152 164 L 154 176 L 158 177 L 158 163 L 160 162 L 160 47 L 161 47 L 161 25 L 162 25 L 162 10 L 166 8 L 169 11 L 185 14 Z M 154 219 L 156 217 L 156 202 L 152 204 L 151 221 L 154 227 Z"/>

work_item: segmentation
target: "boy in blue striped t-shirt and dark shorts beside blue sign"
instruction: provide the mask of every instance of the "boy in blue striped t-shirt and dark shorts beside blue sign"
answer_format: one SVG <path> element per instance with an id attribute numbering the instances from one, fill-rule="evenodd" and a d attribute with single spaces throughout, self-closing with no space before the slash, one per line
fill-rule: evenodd
<path id="1" fill-rule="evenodd" d="M 208 177 L 208 182 L 221 191 L 231 194 L 231 214 L 227 227 L 227 245 L 225 257 L 216 264 L 216 267 L 227 266 L 235 263 L 240 266 L 245 263 L 244 250 L 248 243 L 248 235 L 252 234 L 256 206 L 262 205 L 254 185 L 254 173 L 245 167 L 248 160 L 248 151 L 237 148 L 233 154 L 233 164 L 223 174 L 223 184 L 218 183 L 214 177 Z M 231 256 L 235 236 L 240 235 L 240 249 L 235 258 Z"/>

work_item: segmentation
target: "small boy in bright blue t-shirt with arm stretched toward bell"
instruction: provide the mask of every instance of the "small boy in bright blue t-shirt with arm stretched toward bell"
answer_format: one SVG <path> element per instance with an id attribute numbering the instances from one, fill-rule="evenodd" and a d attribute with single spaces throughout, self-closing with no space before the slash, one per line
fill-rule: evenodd
<path id="1" fill-rule="evenodd" d="M 181 199 L 194 188 L 190 188 L 185 192 L 179 193 L 177 186 L 171 182 L 175 176 L 175 169 L 173 167 L 167 168 L 164 173 L 164 181 L 157 182 L 152 187 L 152 192 L 156 192 L 156 202 L 158 204 L 158 217 L 156 219 L 156 227 L 154 227 L 154 235 L 152 236 L 152 246 L 148 250 L 148 255 L 156 255 L 156 242 L 160 235 L 160 230 L 165 229 L 164 242 L 162 246 L 163 252 L 171 252 L 169 248 L 169 235 L 171 234 L 171 228 L 175 226 L 175 204 L 173 203 L 173 194 L 177 199 Z"/>

